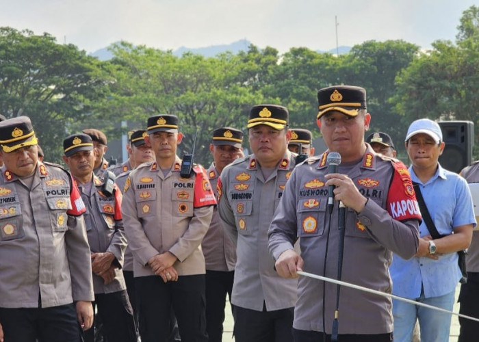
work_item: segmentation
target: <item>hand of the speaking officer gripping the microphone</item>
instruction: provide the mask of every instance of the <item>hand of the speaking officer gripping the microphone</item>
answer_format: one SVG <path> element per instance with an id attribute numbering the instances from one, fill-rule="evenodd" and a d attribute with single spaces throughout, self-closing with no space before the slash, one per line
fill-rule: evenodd
<path id="1" fill-rule="evenodd" d="M 363 211 L 367 198 L 359 192 L 352 179 L 346 174 L 339 173 L 326 174 L 324 177 L 328 180 L 324 185 L 327 187 L 335 185 L 335 200 L 340 200 L 346 207 L 354 209 L 357 213 Z"/>

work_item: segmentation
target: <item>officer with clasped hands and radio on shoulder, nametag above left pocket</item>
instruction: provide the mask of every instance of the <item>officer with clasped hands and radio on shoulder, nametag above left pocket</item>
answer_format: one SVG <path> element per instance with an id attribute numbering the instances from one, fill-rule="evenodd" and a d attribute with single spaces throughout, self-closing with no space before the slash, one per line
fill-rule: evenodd
<path id="1" fill-rule="evenodd" d="M 125 183 L 123 219 L 131 251 L 143 342 L 167 341 L 170 307 L 181 341 L 207 341 L 205 236 L 216 199 L 201 166 L 180 174 L 178 118 L 148 118 L 155 162 L 143 163 Z"/>

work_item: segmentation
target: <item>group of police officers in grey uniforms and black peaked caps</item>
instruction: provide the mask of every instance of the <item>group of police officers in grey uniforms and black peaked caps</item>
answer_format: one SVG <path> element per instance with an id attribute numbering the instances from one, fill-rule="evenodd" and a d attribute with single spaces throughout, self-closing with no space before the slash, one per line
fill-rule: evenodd
<path id="1" fill-rule="evenodd" d="M 103 132 L 69 135 L 68 170 L 40 159 L 29 118 L 1 121 L 0 341 L 222 341 L 227 296 L 237 342 L 392 341 L 389 298 L 298 278 L 391 293 L 393 254 L 417 257 L 424 235 L 411 169 L 389 135 L 365 143 L 365 90 L 318 102 L 324 153 L 285 107 L 256 105 L 250 155 L 220 127 L 207 170 L 183 165 L 173 115 L 129 132 L 112 167 Z"/>

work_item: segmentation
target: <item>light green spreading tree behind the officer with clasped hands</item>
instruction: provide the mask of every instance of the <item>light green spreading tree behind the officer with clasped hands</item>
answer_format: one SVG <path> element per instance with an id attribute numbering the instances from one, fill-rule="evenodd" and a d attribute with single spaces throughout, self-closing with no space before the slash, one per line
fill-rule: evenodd
<path id="1" fill-rule="evenodd" d="M 177 115 L 185 135 L 179 150 L 192 150 L 198 129 L 195 160 L 203 164 L 211 161 L 213 129 L 246 127 L 245 112 L 261 99 L 248 81 L 238 77 L 244 71 L 243 56 L 175 57 L 171 51 L 127 42 L 116 44 L 112 51 L 114 59 L 101 70 L 109 79 L 110 92 L 97 111 L 144 125 L 152 115 Z"/>

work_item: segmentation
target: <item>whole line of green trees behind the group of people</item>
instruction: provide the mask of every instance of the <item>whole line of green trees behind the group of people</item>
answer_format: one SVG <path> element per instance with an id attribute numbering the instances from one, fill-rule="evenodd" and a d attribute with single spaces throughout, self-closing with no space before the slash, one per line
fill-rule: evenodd
<path id="1" fill-rule="evenodd" d="M 417 118 L 472 120 L 479 131 L 477 6 L 463 12 L 456 38 L 433 42 L 430 51 L 402 40 L 372 40 L 339 57 L 305 47 L 279 55 L 255 45 L 236 55 L 177 57 L 120 42 L 111 48 L 112 60 L 100 62 L 49 34 L 2 27 L 0 111 L 30 116 L 50 160 L 60 159 L 65 135 L 86 125 L 115 137 L 122 129 L 145 127 L 149 116 L 174 114 L 185 134 L 179 150 L 192 150 L 198 129 L 195 159 L 207 164 L 213 129 L 233 126 L 247 133 L 248 111 L 259 103 L 284 105 L 291 127 L 318 136 L 318 90 L 350 84 L 367 90 L 371 129 L 389 133 L 401 152 L 406 129 Z"/>

